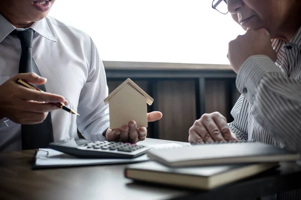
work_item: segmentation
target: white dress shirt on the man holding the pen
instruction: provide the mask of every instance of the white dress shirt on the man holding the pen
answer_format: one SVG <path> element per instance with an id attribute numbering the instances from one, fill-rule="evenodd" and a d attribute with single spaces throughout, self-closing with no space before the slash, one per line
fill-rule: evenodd
<path id="1" fill-rule="evenodd" d="M 18 74 L 21 43 L 9 35 L 16 27 L 0 14 L 0 84 Z M 92 39 L 81 30 L 46 17 L 32 26 L 33 58 L 47 78 L 46 90 L 64 96 L 80 116 L 58 109 L 51 112 L 54 141 L 77 136 L 105 140 L 109 109 L 105 70 Z M 0 119 L 0 152 L 21 150 L 21 124 Z"/>

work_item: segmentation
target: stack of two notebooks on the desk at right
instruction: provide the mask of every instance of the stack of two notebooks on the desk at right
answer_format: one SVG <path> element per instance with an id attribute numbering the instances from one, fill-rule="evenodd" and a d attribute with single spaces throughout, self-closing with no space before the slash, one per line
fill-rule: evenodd
<path id="1" fill-rule="evenodd" d="M 260 142 L 205 143 L 153 149 L 150 161 L 128 165 L 125 177 L 145 182 L 209 190 L 273 170 L 300 154 Z"/>

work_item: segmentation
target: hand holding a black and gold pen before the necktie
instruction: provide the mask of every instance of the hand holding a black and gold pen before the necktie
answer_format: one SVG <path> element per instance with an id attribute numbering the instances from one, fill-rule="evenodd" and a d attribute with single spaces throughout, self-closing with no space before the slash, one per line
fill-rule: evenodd
<path id="1" fill-rule="evenodd" d="M 41 123 L 49 111 L 59 108 L 53 102 L 68 104 L 63 96 L 18 84 L 19 78 L 38 85 L 47 81 L 36 73 L 20 73 L 0 85 L 0 118 L 7 117 L 20 124 Z"/>

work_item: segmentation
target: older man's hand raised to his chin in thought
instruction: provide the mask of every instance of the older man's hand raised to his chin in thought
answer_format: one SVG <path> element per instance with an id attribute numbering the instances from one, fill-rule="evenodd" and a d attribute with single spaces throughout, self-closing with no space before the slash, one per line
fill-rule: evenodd
<path id="1" fill-rule="evenodd" d="M 267 55 L 273 61 L 277 59 L 270 35 L 264 28 L 248 29 L 244 35 L 238 35 L 229 42 L 227 57 L 235 73 L 238 73 L 241 65 L 252 55 Z"/>

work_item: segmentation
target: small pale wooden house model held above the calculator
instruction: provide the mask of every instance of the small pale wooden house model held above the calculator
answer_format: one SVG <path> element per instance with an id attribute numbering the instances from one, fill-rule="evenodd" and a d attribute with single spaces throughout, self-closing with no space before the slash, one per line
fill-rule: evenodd
<path id="1" fill-rule="evenodd" d="M 147 104 L 151 105 L 153 101 L 143 89 L 127 78 L 104 99 L 104 103 L 109 104 L 110 128 L 120 128 L 130 120 L 136 121 L 137 127 L 147 127 Z"/>

